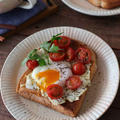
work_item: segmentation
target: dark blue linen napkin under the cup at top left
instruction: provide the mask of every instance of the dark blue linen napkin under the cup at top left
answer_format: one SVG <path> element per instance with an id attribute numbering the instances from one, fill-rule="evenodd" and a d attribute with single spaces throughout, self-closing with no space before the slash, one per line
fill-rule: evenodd
<path id="1" fill-rule="evenodd" d="M 0 14 L 0 24 L 19 26 L 46 8 L 46 4 L 42 0 L 38 0 L 32 9 L 15 8 L 7 13 Z M 0 35 L 8 31 L 8 29 L 0 28 Z"/>

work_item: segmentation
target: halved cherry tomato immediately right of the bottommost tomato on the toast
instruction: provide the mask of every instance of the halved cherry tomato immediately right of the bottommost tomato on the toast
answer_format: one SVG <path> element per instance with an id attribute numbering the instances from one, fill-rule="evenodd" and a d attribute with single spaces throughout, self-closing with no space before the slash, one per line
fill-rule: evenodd
<path id="1" fill-rule="evenodd" d="M 73 75 L 73 76 L 69 77 L 65 83 L 67 88 L 69 88 L 71 90 L 76 90 L 77 88 L 79 88 L 81 86 L 81 84 L 82 84 L 82 81 L 80 80 L 80 77 L 77 75 Z"/>

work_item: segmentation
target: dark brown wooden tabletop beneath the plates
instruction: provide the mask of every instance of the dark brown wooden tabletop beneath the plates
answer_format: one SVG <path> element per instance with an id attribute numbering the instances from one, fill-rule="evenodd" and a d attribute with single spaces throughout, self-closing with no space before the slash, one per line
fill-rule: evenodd
<path id="1" fill-rule="evenodd" d="M 87 16 L 73 11 L 60 0 L 56 0 L 56 2 L 59 4 L 57 13 L 0 43 L 0 71 L 6 57 L 19 42 L 32 33 L 54 26 L 80 27 L 97 34 L 113 48 L 120 63 L 120 15 L 111 17 Z M 1 97 L 0 120 L 14 120 L 5 108 Z M 99 120 L 120 120 L 120 88 L 113 104 Z"/>

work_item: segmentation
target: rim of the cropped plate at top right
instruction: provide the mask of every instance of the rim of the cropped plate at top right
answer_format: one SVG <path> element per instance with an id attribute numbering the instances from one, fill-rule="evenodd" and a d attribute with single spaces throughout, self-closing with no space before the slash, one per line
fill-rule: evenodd
<path id="1" fill-rule="evenodd" d="M 87 11 L 86 9 L 83 9 L 83 8 L 76 8 L 76 5 L 73 4 L 73 3 L 69 3 L 68 0 L 61 0 L 65 5 L 67 5 L 69 8 L 79 12 L 79 13 L 82 13 L 82 14 L 85 14 L 85 15 L 90 15 L 90 16 L 114 16 L 114 15 L 119 15 L 120 14 L 120 9 L 119 10 L 116 10 L 116 13 L 109 13 L 109 12 L 105 12 L 104 14 L 100 14 L 98 13 L 97 11 L 94 11 L 94 10 L 89 10 Z"/>

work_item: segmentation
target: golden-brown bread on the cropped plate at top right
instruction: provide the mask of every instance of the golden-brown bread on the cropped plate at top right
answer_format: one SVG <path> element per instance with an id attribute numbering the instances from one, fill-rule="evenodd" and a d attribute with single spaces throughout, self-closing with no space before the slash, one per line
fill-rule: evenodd
<path id="1" fill-rule="evenodd" d="M 97 7 L 111 9 L 120 6 L 120 0 L 88 0 Z"/>

